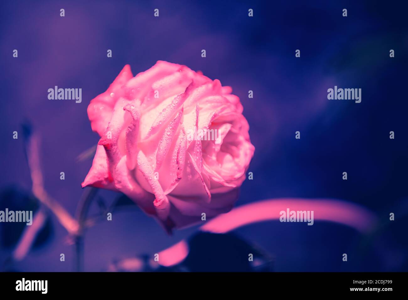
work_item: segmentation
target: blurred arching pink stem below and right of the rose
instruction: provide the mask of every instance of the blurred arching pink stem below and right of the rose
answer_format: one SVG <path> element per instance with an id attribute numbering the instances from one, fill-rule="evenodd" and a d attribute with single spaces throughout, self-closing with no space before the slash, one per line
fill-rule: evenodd
<path id="1" fill-rule="evenodd" d="M 239 227 L 258 222 L 279 220 L 280 212 L 313 211 L 314 222 L 329 221 L 352 227 L 361 233 L 369 233 L 375 227 L 376 217 L 368 209 L 344 200 L 279 198 L 257 201 L 235 207 L 228 213 L 209 220 L 201 231 L 227 233 Z M 283 224 L 279 224 L 283 225 Z M 279 226 L 275 227 L 278 228 Z M 162 266 L 170 267 L 182 262 L 188 255 L 188 243 L 177 244 L 159 252 Z"/>

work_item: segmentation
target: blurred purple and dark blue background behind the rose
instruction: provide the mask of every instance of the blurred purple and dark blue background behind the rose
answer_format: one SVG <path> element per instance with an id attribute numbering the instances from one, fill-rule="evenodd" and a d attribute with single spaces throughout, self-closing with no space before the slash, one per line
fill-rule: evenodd
<path id="1" fill-rule="evenodd" d="M 167 60 L 219 79 L 241 98 L 256 150 L 248 170 L 254 179 L 244 182 L 237 205 L 334 198 L 359 204 L 379 220 L 370 236 L 331 222 L 262 222 L 225 236 L 228 247 L 262 249 L 273 257 L 274 271 L 408 271 L 407 8 L 405 1 L 1 1 L 0 209 L 35 209 L 20 135 L 28 121 L 40 136 L 44 187 L 73 215 L 92 162 L 78 156 L 99 139 L 86 115 L 89 101 L 125 64 L 135 75 Z M 49 100 L 55 85 L 82 88 L 82 103 Z M 328 100 L 335 85 L 361 88 L 361 103 Z M 118 196 L 98 192 L 105 202 Z M 18 229 L 4 226 L 1 271 L 73 270 L 74 248 L 54 217 L 30 253 L 12 264 L 6 261 Z M 196 232 L 191 227 L 168 236 L 133 207 L 86 232 L 84 269 L 104 271 L 113 261 L 153 256 Z M 205 237 L 198 249 L 222 256 L 225 247 L 219 237 Z M 211 260 L 195 256 L 195 264 Z M 238 265 L 228 269 L 223 261 L 210 271 Z"/>

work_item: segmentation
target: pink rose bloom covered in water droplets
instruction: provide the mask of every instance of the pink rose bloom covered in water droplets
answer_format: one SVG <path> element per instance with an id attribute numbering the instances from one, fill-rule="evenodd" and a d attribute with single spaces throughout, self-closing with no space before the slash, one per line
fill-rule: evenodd
<path id="1" fill-rule="evenodd" d="M 255 151 L 231 91 L 180 64 L 126 65 L 88 106 L 101 138 L 82 187 L 124 193 L 167 230 L 228 212 Z"/>

